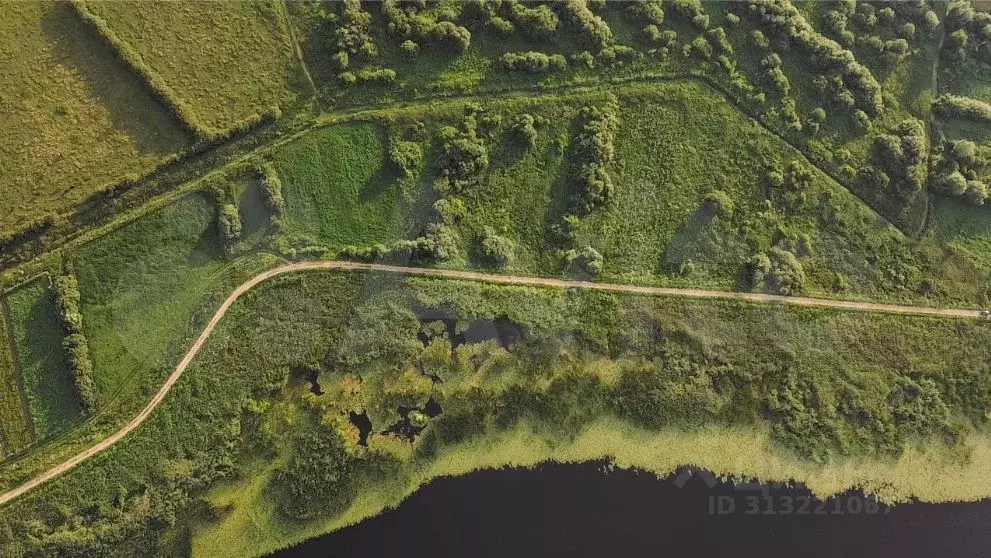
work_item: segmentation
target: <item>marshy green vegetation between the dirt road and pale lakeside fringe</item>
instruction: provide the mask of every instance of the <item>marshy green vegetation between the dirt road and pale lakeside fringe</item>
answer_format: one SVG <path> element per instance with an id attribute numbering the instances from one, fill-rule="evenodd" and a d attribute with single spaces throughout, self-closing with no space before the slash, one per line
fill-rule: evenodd
<path id="1" fill-rule="evenodd" d="M 36 506 L 42 522 L 4 516 L 13 534 L 5 544 L 155 548 L 184 522 L 178 509 L 226 478 L 229 489 L 196 508 L 192 521 L 205 529 L 197 551 L 261 545 L 257 552 L 336 525 L 342 513 L 374 512 L 381 504 L 352 506 L 366 494 L 383 503 L 400 496 L 415 471 L 463 444 L 520 425 L 568 444 L 608 417 L 646 432 L 766 429 L 796 464 L 897 458 L 922 441 L 957 462 L 972 443 L 967 433 L 986 421 L 986 334 L 966 321 L 286 277 L 237 304 L 145 427 L 44 499 L 15 503 Z M 320 389 L 311 393 L 310 382 Z M 351 413 L 368 417 L 370 434 Z M 95 481 L 105 475 L 119 480 Z M 79 509 L 102 511 L 66 519 L 50 503 L 77 498 Z M 248 527 L 246 514 L 262 523 Z M 18 536 L 28 528 L 31 537 Z M 264 535 L 246 537 L 248 528 Z"/>

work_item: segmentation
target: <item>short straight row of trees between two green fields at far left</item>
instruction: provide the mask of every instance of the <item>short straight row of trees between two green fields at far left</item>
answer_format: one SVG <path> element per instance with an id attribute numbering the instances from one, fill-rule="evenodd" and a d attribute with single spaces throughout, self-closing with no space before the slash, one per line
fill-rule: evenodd
<path id="1" fill-rule="evenodd" d="M 99 405 L 99 394 L 93 381 L 93 362 L 89 357 L 89 344 L 83 334 L 83 314 L 79 307 L 79 284 L 74 275 L 55 278 L 55 303 L 59 320 L 65 330 L 62 350 L 72 371 L 73 384 L 83 412 L 92 413 Z"/>

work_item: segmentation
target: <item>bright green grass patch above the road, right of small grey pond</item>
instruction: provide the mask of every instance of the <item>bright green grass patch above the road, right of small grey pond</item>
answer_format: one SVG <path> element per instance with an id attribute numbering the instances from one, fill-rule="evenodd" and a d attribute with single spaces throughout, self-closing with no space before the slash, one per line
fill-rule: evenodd
<path id="1" fill-rule="evenodd" d="M 400 181 L 387 149 L 384 126 L 355 124 L 317 130 L 279 150 L 273 159 L 290 230 L 337 249 L 415 235 L 423 185 Z"/>

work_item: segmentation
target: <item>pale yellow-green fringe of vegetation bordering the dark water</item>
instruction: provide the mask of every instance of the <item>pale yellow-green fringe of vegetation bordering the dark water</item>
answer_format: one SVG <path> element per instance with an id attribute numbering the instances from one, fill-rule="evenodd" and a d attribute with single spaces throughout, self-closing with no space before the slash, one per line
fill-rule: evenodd
<path id="1" fill-rule="evenodd" d="M 428 467 L 405 482 L 369 487 L 342 515 L 287 524 L 264 496 L 277 463 L 254 463 L 242 479 L 219 484 L 207 495 L 223 520 L 194 530 L 193 556 L 257 556 L 341 529 L 397 506 L 430 480 L 465 475 L 479 469 L 533 467 L 541 462 L 586 462 L 611 459 L 620 467 L 636 467 L 670 475 L 679 467 L 696 466 L 717 475 L 757 478 L 767 482 L 805 483 L 825 498 L 853 487 L 900 501 L 976 500 L 991 495 L 991 438 L 975 435 L 972 459 L 956 464 L 938 448 L 910 448 L 890 460 L 844 460 L 815 466 L 774 447 L 768 433 L 755 428 L 710 427 L 697 430 L 643 430 L 620 420 L 602 418 L 571 441 L 548 439 L 528 426 L 499 432 L 442 450 Z"/>

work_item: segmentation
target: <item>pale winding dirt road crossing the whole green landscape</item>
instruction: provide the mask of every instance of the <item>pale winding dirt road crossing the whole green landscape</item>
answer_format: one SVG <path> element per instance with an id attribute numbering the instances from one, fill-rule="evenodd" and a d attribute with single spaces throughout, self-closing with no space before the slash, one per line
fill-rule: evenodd
<path id="1" fill-rule="evenodd" d="M 523 277 L 516 275 L 494 275 L 490 273 L 479 273 L 475 271 L 457 271 L 449 269 L 428 269 L 428 268 L 417 268 L 417 267 L 403 267 L 394 265 L 384 265 L 384 264 L 367 264 L 367 263 L 355 263 L 355 262 L 341 262 L 341 261 L 329 261 L 329 262 L 302 262 L 294 264 L 282 265 L 268 271 L 259 273 L 258 275 L 252 277 L 251 279 L 242 283 L 238 288 L 234 289 L 234 292 L 227 297 L 217 312 L 214 313 L 213 317 L 210 318 L 210 322 L 206 325 L 200 336 L 196 338 L 196 342 L 189 348 L 186 355 L 176 366 L 172 374 L 169 375 L 165 383 L 159 388 L 155 396 L 151 398 L 148 405 L 141 410 L 126 426 L 114 432 L 107 438 L 97 442 L 95 445 L 86 449 L 85 451 L 71 457 L 70 459 L 62 462 L 59 465 L 45 471 L 44 473 L 38 475 L 37 477 L 25 482 L 24 484 L 18 486 L 17 488 L 11 489 L 3 494 L 0 494 L 0 506 L 14 500 L 15 498 L 21 496 L 22 494 L 28 492 L 29 490 L 36 488 L 63 473 L 72 470 L 74 467 L 80 463 L 86 461 L 87 459 L 97 455 L 98 453 L 106 450 L 107 448 L 113 446 L 125 436 L 131 433 L 134 429 L 141 426 L 143 423 L 155 410 L 156 407 L 165 399 L 168 395 L 169 390 L 172 386 L 179 380 L 182 373 L 186 371 L 189 363 L 192 362 L 193 358 L 199 352 L 200 348 L 206 342 L 207 338 L 213 332 L 217 324 L 230 309 L 231 305 L 245 292 L 252 289 L 259 283 L 276 277 L 279 275 L 284 275 L 286 273 L 293 273 L 296 271 L 314 270 L 314 269 L 340 269 L 348 271 L 376 271 L 385 273 L 397 273 L 402 275 L 415 275 L 420 277 L 436 277 L 441 279 L 462 279 L 468 281 L 480 281 L 485 283 L 496 283 L 503 285 L 532 285 L 538 287 L 557 287 L 557 288 L 580 288 L 588 289 L 593 291 L 609 291 L 609 292 L 619 292 L 619 293 L 632 293 L 632 294 L 646 294 L 646 295 L 667 295 L 667 296 L 680 296 L 688 298 L 715 298 L 715 299 L 727 299 L 727 300 L 743 300 L 747 302 L 756 303 L 782 303 L 791 304 L 795 306 L 812 306 L 819 308 L 837 308 L 841 310 L 852 310 L 859 312 L 881 312 L 888 314 L 910 314 L 910 315 L 921 315 L 921 316 L 937 316 L 942 318 L 980 318 L 980 312 L 977 310 L 962 310 L 954 308 L 928 308 L 923 306 L 901 306 L 896 304 L 876 304 L 871 302 L 856 302 L 848 300 L 833 300 L 833 299 L 822 299 L 822 298 L 808 298 L 800 296 L 781 296 L 772 294 L 762 294 L 762 293 L 744 293 L 744 292 L 732 292 L 732 291 L 708 291 L 702 289 L 676 289 L 667 287 L 641 287 L 636 285 L 622 285 L 615 283 L 593 283 L 589 281 L 569 281 L 565 279 L 551 279 L 546 277 Z"/>

